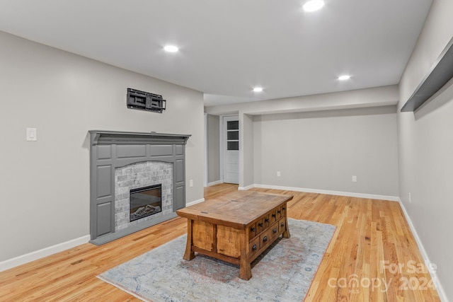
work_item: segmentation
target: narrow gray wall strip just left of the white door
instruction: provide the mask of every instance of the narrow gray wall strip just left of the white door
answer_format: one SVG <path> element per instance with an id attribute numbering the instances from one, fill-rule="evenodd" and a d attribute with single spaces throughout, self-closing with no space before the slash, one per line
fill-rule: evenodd
<path id="1" fill-rule="evenodd" d="M 220 180 L 219 116 L 207 115 L 207 183 Z"/>

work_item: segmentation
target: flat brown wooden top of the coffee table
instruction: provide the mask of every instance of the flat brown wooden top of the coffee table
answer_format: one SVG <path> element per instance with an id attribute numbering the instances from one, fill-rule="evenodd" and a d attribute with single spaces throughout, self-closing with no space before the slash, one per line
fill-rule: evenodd
<path id="1" fill-rule="evenodd" d="M 200 204 L 178 209 L 179 216 L 232 228 L 243 229 L 248 223 L 292 199 L 292 195 L 237 191 Z"/>

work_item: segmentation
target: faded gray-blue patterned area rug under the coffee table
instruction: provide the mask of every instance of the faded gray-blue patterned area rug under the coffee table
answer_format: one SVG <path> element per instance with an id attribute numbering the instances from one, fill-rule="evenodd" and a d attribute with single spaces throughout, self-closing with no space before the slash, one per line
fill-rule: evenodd
<path id="1" fill-rule="evenodd" d="M 186 236 L 99 275 L 143 301 L 302 301 L 331 241 L 335 226 L 288 219 L 280 238 L 252 262 L 252 278 L 239 266 L 197 254 L 183 260 Z"/>

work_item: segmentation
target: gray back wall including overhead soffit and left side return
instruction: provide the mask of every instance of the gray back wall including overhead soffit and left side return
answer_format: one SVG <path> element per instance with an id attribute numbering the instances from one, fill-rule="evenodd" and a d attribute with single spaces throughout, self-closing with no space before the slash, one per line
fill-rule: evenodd
<path id="1" fill-rule="evenodd" d="M 396 103 L 398 86 L 384 86 L 205 110 L 213 115 L 239 112 L 239 187 L 279 185 L 397 197 Z M 330 163 L 326 156 L 333 156 Z"/>

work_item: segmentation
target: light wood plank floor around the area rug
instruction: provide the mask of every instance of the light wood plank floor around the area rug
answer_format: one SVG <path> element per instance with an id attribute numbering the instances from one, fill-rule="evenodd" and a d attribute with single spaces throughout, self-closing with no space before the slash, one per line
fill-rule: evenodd
<path id="1" fill-rule="evenodd" d="M 207 187 L 205 199 L 231 190 L 237 185 Z M 440 301 L 397 202 L 256 190 L 294 194 L 290 217 L 337 226 L 306 301 Z M 139 301 L 96 275 L 186 228 L 186 220 L 176 218 L 99 247 L 86 243 L 0 272 L 0 301 Z"/>

